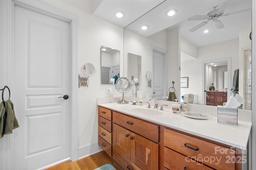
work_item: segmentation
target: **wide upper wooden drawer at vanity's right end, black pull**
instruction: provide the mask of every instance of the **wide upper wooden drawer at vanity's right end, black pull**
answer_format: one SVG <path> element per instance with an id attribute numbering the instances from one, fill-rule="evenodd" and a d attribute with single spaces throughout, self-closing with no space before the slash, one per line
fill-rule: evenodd
<path id="1" fill-rule="evenodd" d="M 164 146 L 215 169 L 234 170 L 235 168 L 235 164 L 227 163 L 230 158 L 235 158 L 235 150 L 170 129 L 164 129 Z"/>

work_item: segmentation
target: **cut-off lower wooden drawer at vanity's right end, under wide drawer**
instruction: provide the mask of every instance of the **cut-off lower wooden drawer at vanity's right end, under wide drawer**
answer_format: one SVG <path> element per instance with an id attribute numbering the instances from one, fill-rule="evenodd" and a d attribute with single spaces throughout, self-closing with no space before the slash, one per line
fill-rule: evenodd
<path id="1" fill-rule="evenodd" d="M 212 168 L 166 147 L 164 147 L 164 166 L 169 170 L 212 170 Z"/>

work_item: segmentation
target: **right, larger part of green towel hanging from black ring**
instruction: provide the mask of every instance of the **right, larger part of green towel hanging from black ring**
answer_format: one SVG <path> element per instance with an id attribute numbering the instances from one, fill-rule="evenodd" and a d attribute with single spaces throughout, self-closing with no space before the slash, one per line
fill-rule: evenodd
<path id="1" fill-rule="evenodd" d="M 14 113 L 14 106 L 11 100 L 6 100 L 4 102 L 5 109 L 6 109 L 6 125 L 4 128 L 4 134 L 12 133 L 13 129 L 20 127 L 18 121 L 15 117 Z"/>

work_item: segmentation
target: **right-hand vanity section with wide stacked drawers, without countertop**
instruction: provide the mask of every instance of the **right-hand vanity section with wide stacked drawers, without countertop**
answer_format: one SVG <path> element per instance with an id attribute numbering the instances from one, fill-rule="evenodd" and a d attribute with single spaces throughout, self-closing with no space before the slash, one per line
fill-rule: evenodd
<path id="1" fill-rule="evenodd" d="M 236 150 L 203 139 L 164 129 L 164 167 L 175 169 L 236 170 Z M 209 166 L 209 167 L 207 167 Z"/>

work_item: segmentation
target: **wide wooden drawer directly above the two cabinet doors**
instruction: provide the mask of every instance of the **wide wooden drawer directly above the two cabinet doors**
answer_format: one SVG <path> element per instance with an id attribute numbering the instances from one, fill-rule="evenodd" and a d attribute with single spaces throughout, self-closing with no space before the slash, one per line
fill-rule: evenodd
<path id="1" fill-rule="evenodd" d="M 158 143 L 157 125 L 113 111 L 113 122 Z"/>

